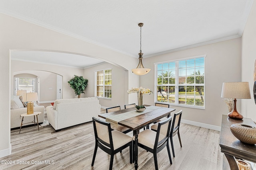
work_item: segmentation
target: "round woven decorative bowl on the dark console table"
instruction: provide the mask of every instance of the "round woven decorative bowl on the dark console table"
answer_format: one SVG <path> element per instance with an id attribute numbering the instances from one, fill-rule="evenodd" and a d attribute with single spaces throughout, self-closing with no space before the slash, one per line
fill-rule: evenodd
<path id="1" fill-rule="evenodd" d="M 233 135 L 243 143 L 256 144 L 256 128 L 250 125 L 233 124 L 230 126 Z"/>

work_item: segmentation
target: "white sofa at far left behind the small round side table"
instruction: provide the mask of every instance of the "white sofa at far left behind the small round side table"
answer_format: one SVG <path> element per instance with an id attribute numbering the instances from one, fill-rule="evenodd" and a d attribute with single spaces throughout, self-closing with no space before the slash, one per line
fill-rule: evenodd
<path id="1" fill-rule="evenodd" d="M 38 123 L 43 123 L 44 106 L 38 106 L 37 104 L 34 104 L 34 111 L 42 112 L 38 115 Z M 27 107 L 24 107 L 18 96 L 11 96 L 11 129 L 20 127 L 22 120 L 22 117 L 20 117 L 20 115 L 23 113 L 27 113 Z M 28 123 L 25 125 L 34 125 L 34 123 L 30 123 L 32 121 L 34 121 L 34 116 L 24 117 L 23 119 L 23 123 Z"/>

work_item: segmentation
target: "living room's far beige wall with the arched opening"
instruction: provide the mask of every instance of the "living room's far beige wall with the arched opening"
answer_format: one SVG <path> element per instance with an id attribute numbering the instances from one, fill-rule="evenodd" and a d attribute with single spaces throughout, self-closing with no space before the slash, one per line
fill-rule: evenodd
<path id="1" fill-rule="evenodd" d="M 48 73 L 44 71 L 47 71 Z M 31 74 L 34 73 L 40 77 L 40 102 L 56 100 L 56 74 L 63 76 L 63 98 L 77 98 L 77 96 L 75 96 L 74 90 L 68 85 L 68 81 L 73 78 L 74 75 L 84 75 L 84 69 L 81 68 L 12 60 L 11 75 L 20 72 L 30 72 Z M 12 89 L 13 78 L 11 79 L 11 82 Z M 52 90 L 49 90 L 49 88 L 52 88 Z M 81 97 L 83 97 L 83 95 Z"/>

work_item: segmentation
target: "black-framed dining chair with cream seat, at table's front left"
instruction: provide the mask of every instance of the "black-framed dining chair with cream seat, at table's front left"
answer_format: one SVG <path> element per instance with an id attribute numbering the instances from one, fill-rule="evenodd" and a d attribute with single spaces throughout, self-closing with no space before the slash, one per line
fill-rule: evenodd
<path id="1" fill-rule="evenodd" d="M 114 155 L 123 149 L 130 147 L 130 163 L 132 163 L 132 137 L 121 133 L 120 131 L 111 131 L 110 123 L 92 117 L 95 148 L 92 158 L 92 166 L 96 157 L 98 147 L 104 152 L 110 154 L 109 169 L 112 170 Z"/>

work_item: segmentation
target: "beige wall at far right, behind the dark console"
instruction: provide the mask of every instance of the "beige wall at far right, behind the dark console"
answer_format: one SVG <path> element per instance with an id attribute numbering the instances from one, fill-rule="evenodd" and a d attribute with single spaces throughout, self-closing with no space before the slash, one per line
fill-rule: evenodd
<path id="1" fill-rule="evenodd" d="M 256 121 L 256 104 L 253 96 L 254 62 L 256 60 L 256 2 L 251 7 L 251 12 L 246 22 L 242 35 L 242 81 L 249 82 L 252 99 L 242 100 L 240 113 Z"/>

